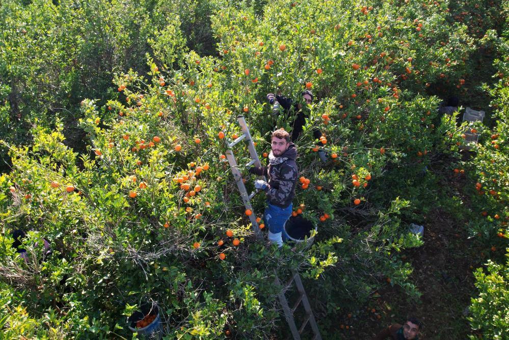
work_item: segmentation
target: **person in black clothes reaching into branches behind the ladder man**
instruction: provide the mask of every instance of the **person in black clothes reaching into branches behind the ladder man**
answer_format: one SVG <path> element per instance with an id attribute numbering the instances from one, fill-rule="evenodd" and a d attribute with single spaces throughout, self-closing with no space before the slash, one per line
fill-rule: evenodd
<path id="1" fill-rule="evenodd" d="M 306 104 L 311 104 L 313 102 L 313 94 L 309 90 L 305 90 L 301 93 L 302 100 L 306 102 Z M 293 120 L 290 122 L 291 141 L 296 141 L 302 133 L 302 127 L 306 124 L 306 115 L 302 110 L 301 102 L 293 102 L 293 99 L 282 97 L 280 95 L 275 95 L 273 93 L 267 94 L 267 100 L 269 103 L 273 105 L 272 114 L 279 115 L 281 111 L 286 114 L 286 117 Z M 313 129 L 313 137 L 315 139 L 319 139 L 322 136 L 322 132 L 318 129 Z M 325 152 L 320 150 L 318 151 L 318 156 L 325 163 L 327 161 L 327 156 Z"/>

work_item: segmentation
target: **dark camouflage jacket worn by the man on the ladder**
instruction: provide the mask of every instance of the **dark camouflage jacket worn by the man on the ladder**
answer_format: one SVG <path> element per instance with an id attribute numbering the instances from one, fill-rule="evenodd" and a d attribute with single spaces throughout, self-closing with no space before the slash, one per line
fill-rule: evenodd
<path id="1" fill-rule="evenodd" d="M 299 175 L 296 158 L 297 147 L 290 143 L 288 149 L 280 157 L 274 157 L 271 151 L 269 166 L 254 169 L 253 173 L 269 177 L 269 187 L 265 191 L 272 205 L 286 208 L 293 200 Z"/>

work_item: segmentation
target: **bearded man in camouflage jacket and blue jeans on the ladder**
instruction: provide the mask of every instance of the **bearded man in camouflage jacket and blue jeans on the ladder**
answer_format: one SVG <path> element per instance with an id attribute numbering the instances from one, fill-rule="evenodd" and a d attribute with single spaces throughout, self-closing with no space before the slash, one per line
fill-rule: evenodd
<path id="1" fill-rule="evenodd" d="M 291 216 L 292 200 L 299 175 L 296 158 L 296 145 L 291 143 L 288 132 L 279 129 L 272 133 L 269 165 L 253 166 L 249 169 L 251 174 L 269 178 L 268 183 L 263 180 L 255 181 L 255 188 L 266 192 L 267 207 L 263 219 L 269 226 L 269 240 L 278 247 L 281 247 L 283 241 L 288 238 L 283 227 Z"/>

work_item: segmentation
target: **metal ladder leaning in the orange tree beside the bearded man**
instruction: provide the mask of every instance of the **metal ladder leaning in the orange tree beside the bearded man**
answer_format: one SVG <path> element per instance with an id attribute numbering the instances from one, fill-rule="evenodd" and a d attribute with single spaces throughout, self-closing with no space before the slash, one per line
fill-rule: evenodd
<path id="1" fill-rule="evenodd" d="M 258 228 L 258 223 L 256 222 L 256 214 L 254 213 L 253 207 L 251 206 L 251 199 L 260 190 L 255 190 L 251 194 L 248 194 L 246 186 L 244 185 L 244 182 L 242 180 L 242 174 L 240 173 L 237 161 L 235 159 L 235 156 L 233 155 L 233 151 L 231 150 L 231 148 L 237 145 L 240 141 L 245 140 L 246 143 L 248 144 L 249 155 L 251 157 L 251 161 L 249 161 L 245 166 L 246 167 L 249 167 L 251 165 L 261 166 L 261 162 L 260 159 L 258 158 L 258 154 L 256 153 L 256 148 L 254 146 L 253 139 L 249 132 L 249 128 L 244 116 L 237 116 L 237 122 L 240 128 L 242 129 L 242 135 L 237 137 L 235 140 L 231 141 L 231 143 L 226 143 L 226 146 L 228 147 L 228 150 L 226 151 L 226 158 L 228 159 L 228 163 L 230 164 L 230 169 L 233 174 L 233 178 L 235 179 L 235 183 L 237 184 L 238 191 L 240 192 L 240 197 L 242 197 L 242 201 L 244 202 L 246 209 L 250 209 L 253 212 L 249 216 L 249 220 L 251 221 L 253 231 L 255 232 L 257 239 L 262 240 L 263 234 L 261 233 L 261 230 Z M 266 181 L 265 176 L 262 176 L 262 178 L 264 181 Z M 297 287 L 297 291 L 299 292 L 299 297 L 297 301 L 294 303 L 293 307 L 290 308 L 288 305 L 288 300 L 286 299 L 285 296 L 285 292 L 291 287 L 293 282 L 295 282 L 295 286 Z M 281 285 L 281 281 L 276 274 L 274 283 L 276 286 L 281 287 L 281 291 L 278 293 L 278 299 L 283 307 L 285 319 L 286 322 L 288 323 L 288 326 L 290 327 L 293 339 L 300 340 L 302 332 L 304 331 L 306 325 L 309 323 L 314 334 L 313 339 L 322 340 L 322 335 L 320 335 L 320 331 L 318 330 L 318 325 L 316 324 L 316 320 L 314 318 L 313 311 L 311 310 L 311 305 L 309 304 L 309 299 L 306 295 L 306 291 L 304 290 L 304 286 L 302 285 L 302 280 L 299 273 L 297 271 L 293 271 L 291 279 L 287 282 L 287 284 L 284 287 Z M 297 307 L 300 305 L 301 302 L 306 311 L 306 317 L 301 327 L 297 329 L 297 325 L 295 323 L 293 314 L 295 313 Z"/>

